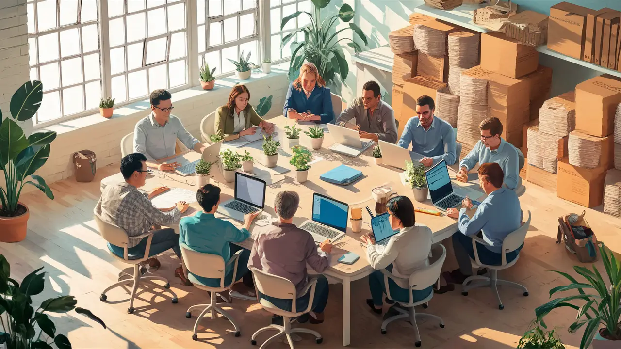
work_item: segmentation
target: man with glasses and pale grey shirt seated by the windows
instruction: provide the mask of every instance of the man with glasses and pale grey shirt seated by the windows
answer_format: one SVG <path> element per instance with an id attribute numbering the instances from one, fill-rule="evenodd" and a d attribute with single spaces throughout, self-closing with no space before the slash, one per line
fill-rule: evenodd
<path id="1" fill-rule="evenodd" d="M 178 117 L 171 115 L 173 103 L 170 92 L 156 89 L 151 93 L 151 114 L 138 121 L 134 129 L 134 152 L 147 156 L 147 166 L 160 171 L 174 171 L 178 163 L 158 163 L 156 160 L 175 155 L 177 138 L 188 149 L 202 153 L 205 146 L 192 137 Z"/>

